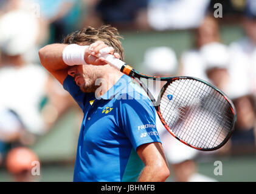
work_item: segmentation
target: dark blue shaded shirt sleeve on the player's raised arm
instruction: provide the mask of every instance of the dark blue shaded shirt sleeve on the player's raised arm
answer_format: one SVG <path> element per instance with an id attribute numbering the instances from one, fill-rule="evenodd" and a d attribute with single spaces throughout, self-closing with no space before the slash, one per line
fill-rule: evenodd
<path id="1" fill-rule="evenodd" d="M 81 92 L 80 87 L 75 84 L 74 78 L 70 75 L 67 75 L 66 79 L 63 82 L 63 88 L 67 90 L 80 106 L 82 110 L 85 108 L 85 93 Z"/>

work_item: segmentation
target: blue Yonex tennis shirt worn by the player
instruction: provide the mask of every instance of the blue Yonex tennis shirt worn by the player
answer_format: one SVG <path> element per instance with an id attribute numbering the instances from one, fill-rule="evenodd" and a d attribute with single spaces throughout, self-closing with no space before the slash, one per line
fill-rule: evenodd
<path id="1" fill-rule="evenodd" d="M 63 87 L 84 113 L 74 181 L 137 181 L 144 168 L 137 147 L 161 142 L 147 94 L 126 75 L 101 98 L 81 92 L 72 76 L 67 76 Z"/>

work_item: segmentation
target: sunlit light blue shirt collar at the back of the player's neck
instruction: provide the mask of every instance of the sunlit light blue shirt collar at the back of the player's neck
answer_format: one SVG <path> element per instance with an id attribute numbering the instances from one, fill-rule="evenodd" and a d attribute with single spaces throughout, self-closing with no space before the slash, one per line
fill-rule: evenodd
<path id="1" fill-rule="evenodd" d="M 114 84 L 111 89 L 109 89 L 104 95 L 96 99 L 113 99 L 118 93 L 127 93 L 127 85 L 130 84 L 131 78 L 129 76 L 123 75 L 117 82 Z"/>

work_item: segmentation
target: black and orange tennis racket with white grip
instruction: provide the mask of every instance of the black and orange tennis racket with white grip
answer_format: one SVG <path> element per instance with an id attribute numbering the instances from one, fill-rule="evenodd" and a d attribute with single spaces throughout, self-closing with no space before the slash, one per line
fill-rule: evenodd
<path id="1" fill-rule="evenodd" d="M 230 99 L 202 79 L 148 76 L 113 55 L 101 55 L 108 64 L 135 79 L 147 92 L 162 124 L 176 139 L 194 149 L 220 149 L 232 135 L 237 113 Z M 157 99 L 140 79 L 166 81 Z"/>

